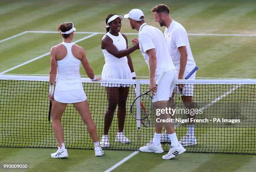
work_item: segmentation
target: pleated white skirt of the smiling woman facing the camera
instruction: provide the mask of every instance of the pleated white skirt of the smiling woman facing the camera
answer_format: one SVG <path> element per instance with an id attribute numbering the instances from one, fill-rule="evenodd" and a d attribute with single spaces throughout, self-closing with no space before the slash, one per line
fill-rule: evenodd
<path id="1" fill-rule="evenodd" d="M 102 79 L 132 79 L 131 70 L 128 64 L 115 66 L 105 64 L 102 69 L 101 74 Z M 129 84 L 111 84 L 111 83 L 101 83 L 101 86 L 105 87 L 128 87 Z"/>

